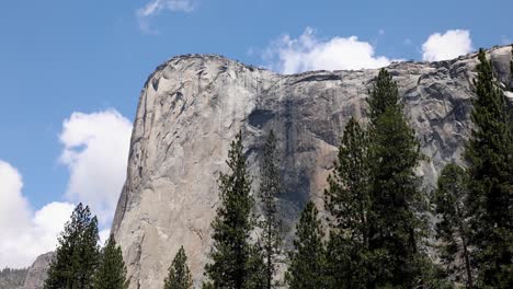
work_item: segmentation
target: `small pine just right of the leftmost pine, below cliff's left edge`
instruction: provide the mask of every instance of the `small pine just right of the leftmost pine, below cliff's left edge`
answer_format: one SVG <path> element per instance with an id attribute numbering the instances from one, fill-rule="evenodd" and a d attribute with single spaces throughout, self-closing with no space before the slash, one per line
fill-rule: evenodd
<path id="1" fill-rule="evenodd" d="M 126 289 L 126 266 L 123 253 L 116 245 L 114 236 L 111 235 L 102 248 L 100 264 L 94 274 L 94 289 Z"/>

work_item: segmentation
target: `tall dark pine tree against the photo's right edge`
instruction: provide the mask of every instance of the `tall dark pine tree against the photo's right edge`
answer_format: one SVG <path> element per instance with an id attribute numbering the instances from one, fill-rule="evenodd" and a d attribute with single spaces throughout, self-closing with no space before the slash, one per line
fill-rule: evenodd
<path id="1" fill-rule="evenodd" d="M 485 50 L 479 51 L 474 81 L 472 129 L 466 148 L 469 162 L 470 243 L 476 247 L 478 284 L 513 288 L 513 134 L 511 109 L 498 88 Z"/>

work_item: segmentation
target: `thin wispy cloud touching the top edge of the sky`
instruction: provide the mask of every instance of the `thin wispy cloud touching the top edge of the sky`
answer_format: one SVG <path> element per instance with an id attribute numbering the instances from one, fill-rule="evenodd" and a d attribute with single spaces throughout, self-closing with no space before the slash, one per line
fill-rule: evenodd
<path id="1" fill-rule="evenodd" d="M 142 32 L 158 34 L 158 31 L 150 27 L 150 19 L 159 15 L 162 11 L 192 12 L 195 8 L 193 0 L 152 0 L 145 7 L 137 10 L 137 20 Z"/>

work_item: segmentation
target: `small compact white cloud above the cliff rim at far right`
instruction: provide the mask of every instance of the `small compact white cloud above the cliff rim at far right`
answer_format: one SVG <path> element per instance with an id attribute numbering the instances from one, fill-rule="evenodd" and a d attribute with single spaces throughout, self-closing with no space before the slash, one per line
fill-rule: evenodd
<path id="1" fill-rule="evenodd" d="M 456 58 L 472 51 L 470 32 L 466 30 L 449 30 L 444 34 L 435 33 L 422 45 L 422 59 L 438 61 Z"/>

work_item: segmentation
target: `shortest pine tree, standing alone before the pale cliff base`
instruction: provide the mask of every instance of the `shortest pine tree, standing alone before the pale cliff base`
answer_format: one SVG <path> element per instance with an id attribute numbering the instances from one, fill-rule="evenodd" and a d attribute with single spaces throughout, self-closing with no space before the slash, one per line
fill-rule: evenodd
<path id="1" fill-rule="evenodd" d="M 164 280 L 164 289 L 191 289 L 193 286 L 192 275 L 187 266 L 187 256 L 183 246 L 174 256 L 169 275 Z"/>

